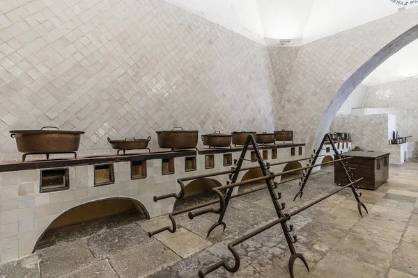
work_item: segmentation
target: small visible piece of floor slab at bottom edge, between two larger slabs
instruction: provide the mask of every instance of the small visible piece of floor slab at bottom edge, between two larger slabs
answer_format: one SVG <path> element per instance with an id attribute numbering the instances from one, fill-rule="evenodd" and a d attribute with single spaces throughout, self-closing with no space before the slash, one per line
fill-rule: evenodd
<path id="1" fill-rule="evenodd" d="M 69 272 L 65 275 L 61 275 L 57 278 L 118 278 L 116 272 L 109 261 L 102 260 L 97 263 L 91 263 L 90 265 L 79 268 L 75 271 Z"/>

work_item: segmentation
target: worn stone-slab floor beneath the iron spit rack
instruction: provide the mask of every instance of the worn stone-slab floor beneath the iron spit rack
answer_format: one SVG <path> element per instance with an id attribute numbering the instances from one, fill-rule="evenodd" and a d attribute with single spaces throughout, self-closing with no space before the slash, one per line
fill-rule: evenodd
<path id="1" fill-rule="evenodd" d="M 257 185 L 259 186 L 259 185 Z M 297 182 L 281 184 L 286 211 L 332 192 L 333 168 L 314 174 L 304 197 L 293 202 Z M 290 220 L 296 250 L 311 272 L 297 261 L 295 277 L 418 277 L 418 162 L 391 165 L 390 179 L 375 191 L 362 190 L 369 214 L 361 218 L 350 190 L 343 190 Z M 221 258 L 231 259 L 226 245 L 274 220 L 266 190 L 231 201 L 226 231 L 217 228 L 206 238 L 217 215 L 189 220 L 176 217 L 178 231 L 148 238 L 147 231 L 169 224 L 167 218 L 141 220 L 134 213 L 49 233 L 35 254 L 0 265 L 0 277 L 198 277 Z M 208 277 L 290 277 L 290 252 L 279 227 L 238 245 L 241 267 Z"/>

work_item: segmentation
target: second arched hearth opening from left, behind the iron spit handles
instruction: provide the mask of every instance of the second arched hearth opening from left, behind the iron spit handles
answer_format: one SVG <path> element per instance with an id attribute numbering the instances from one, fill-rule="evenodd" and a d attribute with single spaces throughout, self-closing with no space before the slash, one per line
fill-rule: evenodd
<path id="1" fill-rule="evenodd" d="M 185 197 L 174 203 L 174 211 L 219 199 L 212 188 L 222 186 L 216 179 L 195 179 L 185 186 Z"/>

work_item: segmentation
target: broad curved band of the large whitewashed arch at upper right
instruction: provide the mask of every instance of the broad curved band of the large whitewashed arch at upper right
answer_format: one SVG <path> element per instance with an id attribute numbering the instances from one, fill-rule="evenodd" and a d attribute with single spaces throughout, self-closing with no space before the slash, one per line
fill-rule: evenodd
<path id="1" fill-rule="evenodd" d="M 327 107 L 325 114 L 320 120 L 318 129 L 316 130 L 314 138 L 314 149 L 318 147 L 320 141 L 323 139 L 325 133 L 330 130 L 332 120 L 339 108 L 343 105 L 344 101 L 350 96 L 350 94 L 357 88 L 357 86 L 366 79 L 373 70 L 381 65 L 385 60 L 396 54 L 403 47 L 407 46 L 411 42 L 418 39 L 418 25 L 413 26 L 405 33 L 402 33 L 397 38 L 389 42 L 385 47 L 380 49 L 369 60 L 366 61 L 359 69 L 357 69 L 339 88 L 336 95 L 334 95 L 330 105 Z"/>

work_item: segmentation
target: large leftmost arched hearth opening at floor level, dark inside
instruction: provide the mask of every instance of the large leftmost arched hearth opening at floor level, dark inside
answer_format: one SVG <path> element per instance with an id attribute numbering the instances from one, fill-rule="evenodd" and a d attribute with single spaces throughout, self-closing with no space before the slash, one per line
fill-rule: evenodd
<path id="1" fill-rule="evenodd" d="M 59 215 L 38 238 L 33 251 L 146 219 L 150 215 L 137 199 L 112 197 L 88 202 Z"/>

